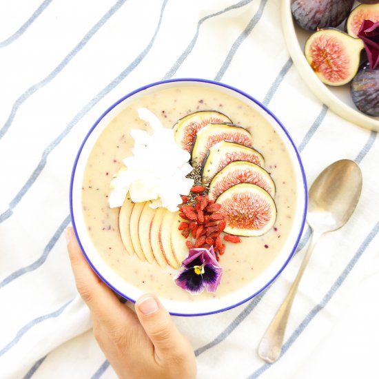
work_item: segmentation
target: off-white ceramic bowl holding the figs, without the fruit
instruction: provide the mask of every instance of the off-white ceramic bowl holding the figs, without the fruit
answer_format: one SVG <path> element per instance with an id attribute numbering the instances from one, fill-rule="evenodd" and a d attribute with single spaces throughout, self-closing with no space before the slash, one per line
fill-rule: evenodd
<path id="1" fill-rule="evenodd" d="M 357 3 L 358 4 L 358 3 Z M 379 132 L 379 117 L 367 116 L 360 112 L 350 96 L 350 86 L 331 87 L 318 79 L 304 56 L 304 44 L 311 32 L 303 30 L 294 22 L 291 14 L 291 0 L 282 2 L 282 27 L 289 54 L 300 76 L 309 89 L 336 114 L 351 123 Z"/>

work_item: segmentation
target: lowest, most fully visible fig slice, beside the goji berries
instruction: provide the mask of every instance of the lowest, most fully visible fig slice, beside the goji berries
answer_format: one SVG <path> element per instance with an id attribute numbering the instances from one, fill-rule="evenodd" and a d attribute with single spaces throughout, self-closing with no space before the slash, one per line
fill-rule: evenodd
<path id="1" fill-rule="evenodd" d="M 252 183 L 238 183 L 216 199 L 225 212 L 225 233 L 261 236 L 274 226 L 276 205 L 265 189 Z"/>

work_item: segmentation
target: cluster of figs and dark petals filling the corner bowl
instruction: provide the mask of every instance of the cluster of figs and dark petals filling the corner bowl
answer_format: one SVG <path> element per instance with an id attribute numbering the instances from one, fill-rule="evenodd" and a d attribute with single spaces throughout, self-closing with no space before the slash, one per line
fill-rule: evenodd
<path id="1" fill-rule="evenodd" d="M 305 58 L 322 83 L 351 83 L 358 110 L 379 116 L 379 0 L 360 3 L 352 9 L 354 0 L 291 0 L 291 12 L 313 32 Z"/>

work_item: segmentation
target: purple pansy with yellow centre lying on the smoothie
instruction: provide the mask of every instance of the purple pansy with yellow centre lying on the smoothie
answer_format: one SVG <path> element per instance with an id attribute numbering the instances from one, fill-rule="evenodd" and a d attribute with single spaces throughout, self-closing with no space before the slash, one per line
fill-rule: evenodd
<path id="1" fill-rule="evenodd" d="M 190 249 L 175 276 L 176 285 L 190 294 L 201 294 L 204 289 L 215 292 L 220 284 L 223 268 L 218 265 L 213 246 L 208 249 Z"/>

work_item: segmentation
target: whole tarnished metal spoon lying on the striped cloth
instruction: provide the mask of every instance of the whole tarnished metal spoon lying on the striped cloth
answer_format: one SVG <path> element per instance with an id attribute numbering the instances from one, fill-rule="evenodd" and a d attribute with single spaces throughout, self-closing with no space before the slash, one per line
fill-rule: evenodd
<path id="1" fill-rule="evenodd" d="M 307 222 L 313 234 L 298 275 L 258 346 L 258 355 L 266 362 L 275 362 L 280 356 L 289 311 L 318 238 L 345 225 L 354 212 L 361 189 L 360 168 L 348 159 L 329 165 L 309 189 Z"/>

